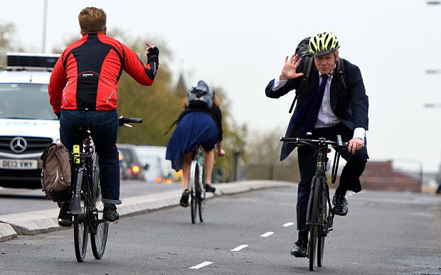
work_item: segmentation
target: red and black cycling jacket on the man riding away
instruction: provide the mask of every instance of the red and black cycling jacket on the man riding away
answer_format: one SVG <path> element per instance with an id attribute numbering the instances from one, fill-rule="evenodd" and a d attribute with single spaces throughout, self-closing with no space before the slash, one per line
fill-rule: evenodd
<path id="1" fill-rule="evenodd" d="M 157 58 L 147 63 L 144 67 L 133 50 L 103 33 L 85 34 L 64 50 L 53 68 L 48 85 L 53 112 L 117 109 L 122 70 L 139 84 L 149 86 L 159 63 Z"/>

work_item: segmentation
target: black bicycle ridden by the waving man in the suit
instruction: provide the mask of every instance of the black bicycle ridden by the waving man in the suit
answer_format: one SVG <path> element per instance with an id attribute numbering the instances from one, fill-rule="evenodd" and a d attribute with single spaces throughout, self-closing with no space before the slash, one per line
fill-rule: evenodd
<path id="1" fill-rule="evenodd" d="M 297 144 L 297 146 L 312 146 L 317 153 L 316 173 L 312 178 L 311 193 L 307 208 L 307 225 L 309 225 L 309 240 L 307 257 L 309 258 L 309 270 L 314 271 L 314 261 L 317 249 L 317 266 L 322 266 L 324 255 L 324 238 L 333 230 L 334 212 L 331 206 L 329 186 L 326 179 L 326 171 L 329 170 L 329 158 L 327 154 L 331 148 L 336 151 L 332 166 L 331 183 L 335 183 L 337 168 L 339 167 L 340 151 L 347 149 L 348 143 L 341 141 L 337 136 L 336 141 L 320 139 L 299 139 L 281 137 L 280 141 Z M 331 147 L 331 148 L 330 148 Z"/>

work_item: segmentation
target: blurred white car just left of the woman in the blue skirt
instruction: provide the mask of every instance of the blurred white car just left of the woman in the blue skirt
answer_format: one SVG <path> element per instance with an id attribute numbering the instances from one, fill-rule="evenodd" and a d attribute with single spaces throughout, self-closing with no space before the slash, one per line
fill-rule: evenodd
<path id="1" fill-rule="evenodd" d="M 147 169 L 147 180 L 156 183 L 172 183 L 174 181 L 174 170 L 171 162 L 165 159 L 165 146 L 137 146 L 137 151 L 143 163 L 149 165 Z"/>

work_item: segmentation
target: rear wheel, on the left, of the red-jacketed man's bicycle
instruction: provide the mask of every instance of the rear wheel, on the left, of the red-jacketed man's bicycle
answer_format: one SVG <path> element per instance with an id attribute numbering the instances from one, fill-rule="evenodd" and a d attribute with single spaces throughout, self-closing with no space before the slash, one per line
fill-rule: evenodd
<path id="1" fill-rule="evenodd" d="M 78 172 L 76 184 L 82 187 L 86 184 L 83 170 Z M 83 185 L 82 185 L 83 184 Z M 80 213 L 73 215 L 73 242 L 75 246 L 75 257 L 78 262 L 83 262 L 86 257 L 87 241 L 89 236 L 89 222 L 87 221 L 87 205 L 84 195 L 80 198 Z"/>

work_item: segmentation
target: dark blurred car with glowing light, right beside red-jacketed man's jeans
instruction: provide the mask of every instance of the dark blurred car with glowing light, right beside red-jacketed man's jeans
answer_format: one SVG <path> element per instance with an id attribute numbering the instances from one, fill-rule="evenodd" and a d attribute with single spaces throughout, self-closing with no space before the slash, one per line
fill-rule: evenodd
<path id="1" fill-rule="evenodd" d="M 117 144 L 117 147 L 118 151 L 122 153 L 127 166 L 129 166 L 129 179 L 146 180 L 147 166 L 139 158 L 136 146 L 133 144 Z"/>

